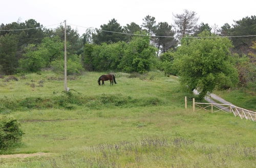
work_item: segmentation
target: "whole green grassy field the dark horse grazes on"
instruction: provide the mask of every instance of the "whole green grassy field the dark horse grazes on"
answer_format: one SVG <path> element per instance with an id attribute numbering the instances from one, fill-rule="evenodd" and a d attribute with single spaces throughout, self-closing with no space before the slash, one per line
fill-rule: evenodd
<path id="1" fill-rule="evenodd" d="M 256 124 L 232 114 L 191 111 L 176 77 L 115 73 L 69 77 L 49 71 L 0 79 L 0 115 L 18 119 L 22 145 L 0 167 L 255 167 Z M 78 93 L 77 93 L 78 92 Z M 184 96 L 189 108 L 184 109 Z"/>

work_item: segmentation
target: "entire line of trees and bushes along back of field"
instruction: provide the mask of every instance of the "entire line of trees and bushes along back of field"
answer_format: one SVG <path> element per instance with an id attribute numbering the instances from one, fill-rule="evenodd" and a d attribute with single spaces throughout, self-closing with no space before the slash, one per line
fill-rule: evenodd
<path id="1" fill-rule="evenodd" d="M 181 80 L 183 75 L 183 83 L 186 83 L 185 81 L 194 83 L 190 87 L 187 83 L 184 85 L 189 89 L 200 86 L 203 88 L 207 80 L 218 81 L 211 88 L 215 88 L 217 84 L 221 88 L 229 88 L 231 84 L 236 83 L 233 79 L 237 79 L 241 86 L 246 86 L 248 82 L 255 83 L 256 37 L 222 39 L 186 37 L 255 35 L 256 16 L 244 17 L 234 21 L 232 25 L 225 23 L 220 28 L 216 25 L 210 27 L 208 23 L 203 22 L 198 24 L 198 16 L 194 11 L 184 10 L 181 14 L 174 14 L 174 18 L 174 24 L 157 23 L 155 17 L 147 15 L 143 18 L 142 25 L 131 22 L 125 26 L 121 26 L 113 18 L 108 23 L 102 24 L 100 29 L 87 29 L 81 36 L 68 25 L 68 74 L 79 73 L 84 69 L 143 73 L 158 68 L 166 75 L 181 76 Z M 31 29 L 35 27 L 37 28 Z M 11 31 L 17 29 L 29 30 Z M 51 30 L 34 19 L 2 23 L 0 74 L 37 72 L 43 68 L 63 72 L 63 40 L 63 25 Z M 216 55 L 218 58 L 215 58 Z M 198 59 L 199 62 L 196 63 Z M 222 68 L 215 67 L 212 62 L 222 65 Z M 225 62 L 225 65 L 221 62 Z M 192 63 L 195 65 L 192 66 Z M 199 65 L 203 65 L 201 69 L 198 69 Z M 204 69 L 204 67 L 210 68 Z M 195 72 L 192 73 L 191 69 Z M 212 73 L 216 69 L 218 69 L 217 76 Z M 193 77 L 210 75 L 204 76 L 202 81 L 189 80 L 188 76 L 184 76 L 186 70 L 186 75 L 190 73 Z M 198 85 L 200 82 L 201 84 Z"/>

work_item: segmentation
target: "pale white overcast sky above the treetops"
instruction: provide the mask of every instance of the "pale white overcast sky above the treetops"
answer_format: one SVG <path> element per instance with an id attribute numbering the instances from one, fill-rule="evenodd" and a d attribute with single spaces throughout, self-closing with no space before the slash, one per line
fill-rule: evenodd
<path id="1" fill-rule="evenodd" d="M 157 22 L 173 24 L 173 14 L 181 14 L 187 9 L 197 13 L 198 23 L 204 22 L 210 26 L 217 24 L 221 27 L 224 23 L 231 25 L 233 20 L 256 15 L 255 0 L 9 0 L 0 4 L 0 23 L 35 19 L 44 26 L 67 20 L 70 24 L 99 28 L 113 18 L 122 26 L 131 22 L 141 25 L 146 15 L 154 16 Z M 80 35 L 85 31 L 81 27 L 72 27 Z"/>

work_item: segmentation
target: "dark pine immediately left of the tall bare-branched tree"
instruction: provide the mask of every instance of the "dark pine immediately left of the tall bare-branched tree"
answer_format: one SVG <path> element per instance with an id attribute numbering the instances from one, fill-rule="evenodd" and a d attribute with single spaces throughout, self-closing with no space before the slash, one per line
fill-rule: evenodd
<path id="1" fill-rule="evenodd" d="M 165 52 L 169 48 L 174 48 L 177 45 L 177 40 L 173 38 L 175 32 L 172 30 L 172 26 L 167 22 L 160 22 L 156 26 L 156 36 L 171 36 L 169 38 L 166 37 L 156 37 L 155 42 L 157 45 L 157 55 L 159 53 L 160 47 L 161 51 Z"/>

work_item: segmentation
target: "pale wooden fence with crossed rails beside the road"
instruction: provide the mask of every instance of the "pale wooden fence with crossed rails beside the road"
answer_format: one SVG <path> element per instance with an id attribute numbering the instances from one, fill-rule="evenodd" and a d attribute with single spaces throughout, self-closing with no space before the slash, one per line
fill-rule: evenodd
<path id="1" fill-rule="evenodd" d="M 199 109 L 196 109 L 199 107 Z M 241 119 L 256 121 L 256 112 L 250 111 L 241 107 L 237 107 L 232 104 L 219 104 L 219 103 L 199 103 L 195 102 L 193 98 L 193 111 L 204 109 L 211 113 L 217 113 L 218 111 L 224 111 L 225 113 L 232 113 L 235 117 L 239 116 Z"/>

